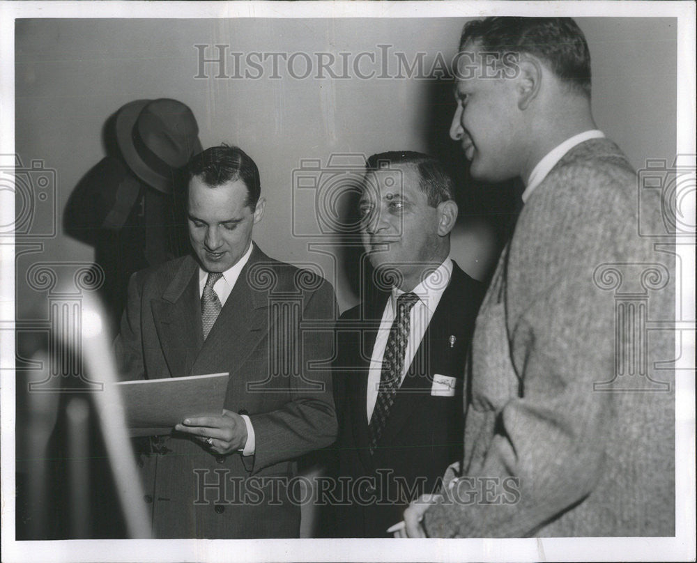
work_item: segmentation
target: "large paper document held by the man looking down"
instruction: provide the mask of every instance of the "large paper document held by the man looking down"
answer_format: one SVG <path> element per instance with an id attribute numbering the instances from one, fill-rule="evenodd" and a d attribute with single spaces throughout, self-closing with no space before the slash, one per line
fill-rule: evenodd
<path id="1" fill-rule="evenodd" d="M 187 417 L 220 416 L 229 378 L 213 373 L 116 383 L 130 435 L 169 434 Z"/>

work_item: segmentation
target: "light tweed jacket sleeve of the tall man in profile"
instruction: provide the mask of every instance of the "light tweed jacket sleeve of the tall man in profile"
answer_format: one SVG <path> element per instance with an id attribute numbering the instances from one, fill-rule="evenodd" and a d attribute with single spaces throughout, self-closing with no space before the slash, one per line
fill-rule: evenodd
<path id="1" fill-rule="evenodd" d="M 596 392 L 594 383 L 611 379 L 615 339 L 628 349 L 631 334 L 615 334 L 613 293 L 595 283 L 594 272 L 602 263 L 646 260 L 631 232 L 635 224 L 609 211 L 626 210 L 627 202 L 606 199 L 610 207 L 599 209 L 592 199 L 615 187 L 588 170 L 575 170 L 556 194 L 542 201 L 535 201 L 542 194 L 533 194 L 528 203 L 537 211 L 516 226 L 528 233 L 522 241 L 528 247 L 520 241 L 512 247 L 505 298 L 507 314 L 516 311 L 508 319 L 507 339 L 519 386 L 508 391 L 502 408 L 478 402 L 475 390 L 466 424 L 488 416 L 485 427 L 493 432 L 466 444 L 473 463 L 427 511 L 430 535 L 534 535 L 583 502 L 602 479 L 608 435 L 627 424 L 620 401 L 631 399 Z M 487 376 L 503 380 L 493 369 Z"/>

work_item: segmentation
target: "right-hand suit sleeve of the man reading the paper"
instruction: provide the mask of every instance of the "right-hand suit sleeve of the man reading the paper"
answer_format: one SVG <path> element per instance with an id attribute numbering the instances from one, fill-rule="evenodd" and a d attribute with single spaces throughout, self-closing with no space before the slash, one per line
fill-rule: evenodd
<path id="1" fill-rule="evenodd" d="M 288 378 L 289 401 L 277 410 L 250 416 L 256 436 L 252 472 L 321 449 L 336 439 L 330 370 L 336 310 L 334 291 L 327 282 L 309 293 L 302 319 L 321 322 L 314 329 L 296 327 L 302 364 L 300 372 Z"/>

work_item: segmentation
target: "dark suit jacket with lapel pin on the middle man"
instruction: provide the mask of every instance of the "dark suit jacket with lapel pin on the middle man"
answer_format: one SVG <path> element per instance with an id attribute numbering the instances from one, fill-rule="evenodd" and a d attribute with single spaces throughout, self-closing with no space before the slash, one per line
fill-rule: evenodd
<path id="1" fill-rule="evenodd" d="M 335 399 L 339 475 L 348 506 L 335 511 L 339 537 L 384 537 L 408 503 L 436 489 L 445 467 L 462 455 L 462 381 L 484 287 L 453 263 L 450 284 L 390 409 L 371 454 L 367 375 L 388 295 L 350 309 L 337 325 Z M 450 337 L 454 336 L 454 346 Z M 454 396 L 433 396 L 434 374 L 457 378 Z M 339 495 L 337 495 L 339 496 Z M 344 495 L 346 497 L 346 495 Z"/>

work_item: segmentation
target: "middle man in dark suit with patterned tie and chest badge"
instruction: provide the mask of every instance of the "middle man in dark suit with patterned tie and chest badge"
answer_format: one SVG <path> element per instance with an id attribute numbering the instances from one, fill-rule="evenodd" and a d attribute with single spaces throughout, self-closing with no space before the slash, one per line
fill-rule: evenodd
<path id="1" fill-rule="evenodd" d="M 385 537 L 461 456 L 464 358 L 484 289 L 452 259 L 452 180 L 421 153 L 373 155 L 360 198 L 378 291 L 338 323 L 339 537 Z M 372 296 L 367 296 L 372 293 Z"/>

